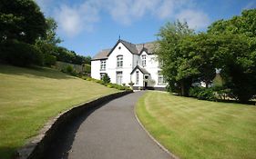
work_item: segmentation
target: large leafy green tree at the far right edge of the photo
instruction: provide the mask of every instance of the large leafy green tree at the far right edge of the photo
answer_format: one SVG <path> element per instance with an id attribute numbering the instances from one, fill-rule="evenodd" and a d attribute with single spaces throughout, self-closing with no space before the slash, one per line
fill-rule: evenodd
<path id="1" fill-rule="evenodd" d="M 256 9 L 244 10 L 241 16 L 210 25 L 209 34 L 218 35 L 221 76 L 230 93 L 241 102 L 256 94 Z"/>

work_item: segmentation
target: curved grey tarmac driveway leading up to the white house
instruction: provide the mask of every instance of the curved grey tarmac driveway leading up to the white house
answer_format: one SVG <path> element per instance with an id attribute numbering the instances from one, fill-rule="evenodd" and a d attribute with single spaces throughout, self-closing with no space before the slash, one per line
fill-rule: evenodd
<path id="1" fill-rule="evenodd" d="M 166 159 L 140 127 L 134 105 L 140 91 L 122 96 L 77 118 L 63 130 L 44 158 L 67 159 Z"/>

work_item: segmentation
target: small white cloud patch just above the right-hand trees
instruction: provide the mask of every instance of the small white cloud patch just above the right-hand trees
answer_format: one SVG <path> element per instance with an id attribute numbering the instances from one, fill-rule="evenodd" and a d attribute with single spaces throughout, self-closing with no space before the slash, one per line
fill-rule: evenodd
<path id="1" fill-rule="evenodd" d="M 202 29 L 210 25 L 209 16 L 198 10 L 183 10 L 176 18 L 188 22 L 189 27 L 193 29 Z"/>

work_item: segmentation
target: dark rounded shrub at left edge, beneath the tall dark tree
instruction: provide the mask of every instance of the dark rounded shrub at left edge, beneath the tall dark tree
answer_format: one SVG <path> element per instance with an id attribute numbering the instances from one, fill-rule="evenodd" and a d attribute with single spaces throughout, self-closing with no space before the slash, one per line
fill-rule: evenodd
<path id="1" fill-rule="evenodd" d="M 11 65 L 43 65 L 44 56 L 34 45 L 16 40 L 0 44 L 0 59 Z"/>

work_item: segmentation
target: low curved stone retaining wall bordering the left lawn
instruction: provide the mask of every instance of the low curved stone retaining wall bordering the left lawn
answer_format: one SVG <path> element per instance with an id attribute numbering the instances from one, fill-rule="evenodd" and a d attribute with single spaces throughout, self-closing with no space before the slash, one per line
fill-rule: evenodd
<path id="1" fill-rule="evenodd" d="M 133 91 L 123 91 L 114 94 L 108 94 L 96 99 L 87 101 L 82 104 L 76 104 L 67 111 L 57 114 L 56 117 L 48 121 L 35 137 L 30 139 L 31 142 L 25 144 L 16 150 L 15 159 L 38 159 L 45 153 L 46 148 L 50 145 L 64 126 L 77 115 L 87 112 L 88 108 L 97 107 L 98 105 L 108 103 L 109 101 L 121 97 Z"/>

